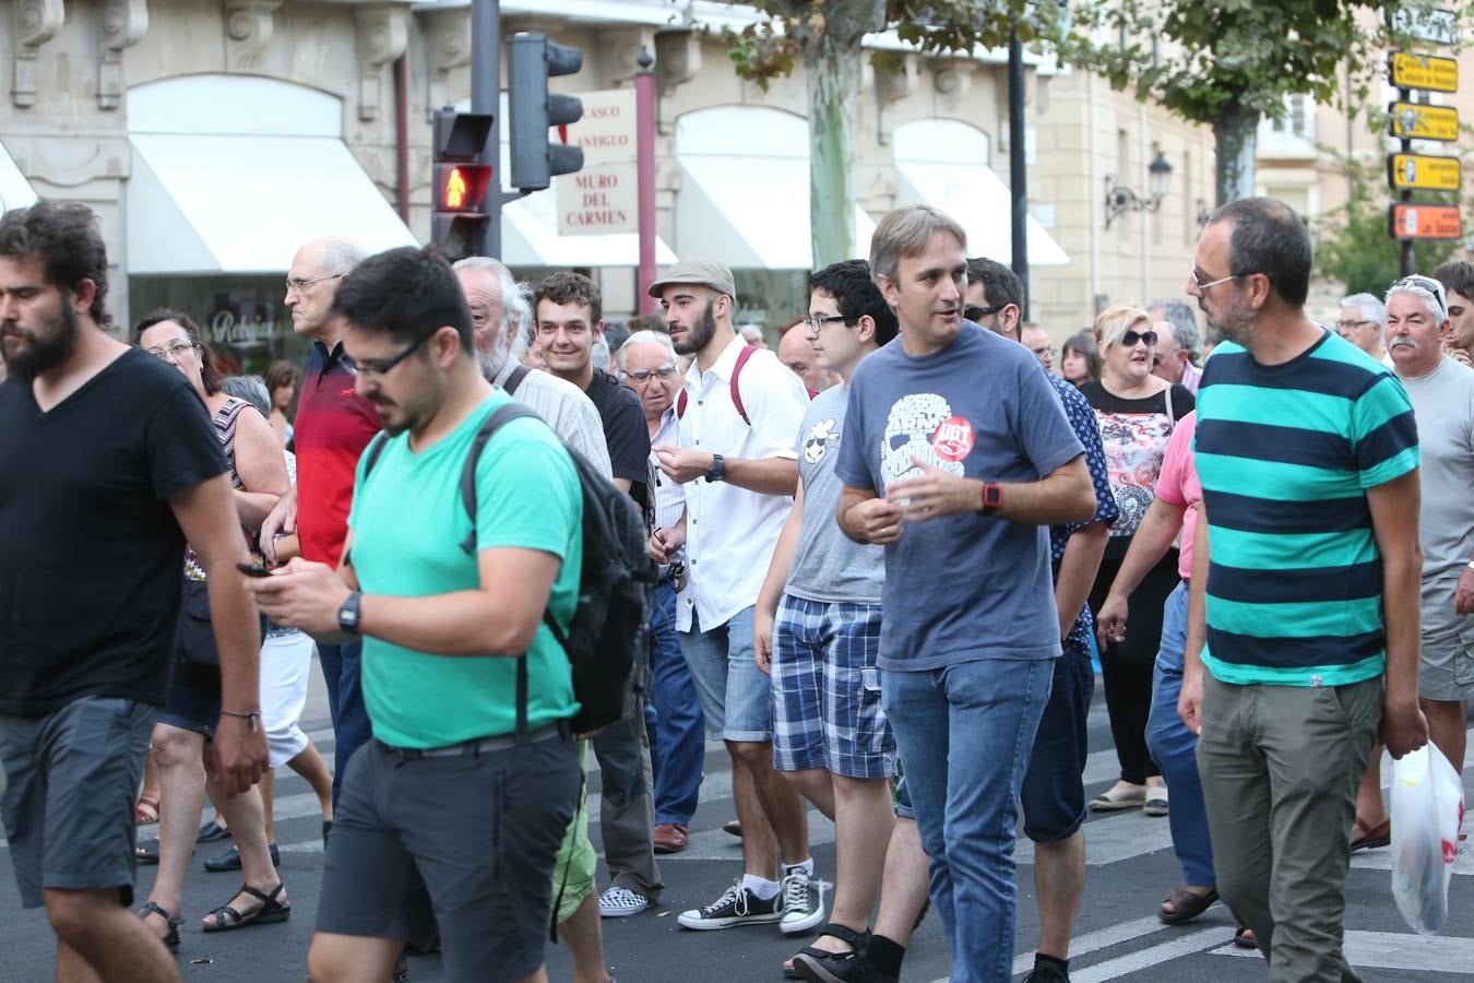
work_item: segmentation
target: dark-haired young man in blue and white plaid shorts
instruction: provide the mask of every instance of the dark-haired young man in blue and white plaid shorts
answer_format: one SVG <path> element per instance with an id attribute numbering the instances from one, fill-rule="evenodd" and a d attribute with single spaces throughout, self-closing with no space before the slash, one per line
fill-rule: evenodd
<path id="1" fill-rule="evenodd" d="M 774 768 L 834 821 L 836 864 L 846 875 L 828 924 L 793 959 L 831 971 L 859 958 L 890 839 L 896 771 L 876 668 L 884 550 L 853 542 L 834 525 L 843 491 L 834 463 L 849 380 L 896 336 L 896 315 L 870 264 L 850 259 L 814 274 L 809 315 L 792 330 L 805 332 L 818 367 L 843 385 L 815 396 L 799 427 L 799 488 L 758 595 L 753 650 L 772 676 Z"/>

